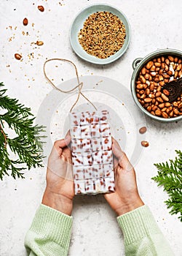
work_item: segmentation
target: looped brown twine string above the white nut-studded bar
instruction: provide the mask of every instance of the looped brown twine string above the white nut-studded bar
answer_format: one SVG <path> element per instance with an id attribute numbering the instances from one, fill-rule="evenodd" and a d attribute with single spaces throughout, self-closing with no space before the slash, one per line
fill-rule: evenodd
<path id="1" fill-rule="evenodd" d="M 66 61 L 66 62 L 71 63 L 71 64 L 74 66 L 74 69 L 75 69 L 75 72 L 76 72 L 76 78 L 77 78 L 77 83 L 78 83 L 78 85 L 77 85 L 77 86 L 74 86 L 74 88 L 72 88 L 72 89 L 70 89 L 70 90 L 67 90 L 67 91 L 66 91 L 66 90 L 62 90 L 62 89 L 58 88 L 57 86 L 55 86 L 55 84 L 52 83 L 52 80 L 50 80 L 50 78 L 47 77 L 47 73 L 46 73 L 46 70 L 45 70 L 45 66 L 46 66 L 47 62 L 50 62 L 50 61 Z M 76 106 L 76 104 L 79 102 L 80 95 L 82 95 L 82 97 L 84 97 L 84 99 L 86 99 L 87 102 L 89 102 L 89 103 L 93 106 L 93 108 L 95 108 L 95 110 L 97 110 L 97 108 L 96 108 L 95 105 L 90 101 L 90 99 L 88 99 L 88 98 L 82 93 L 82 87 L 83 87 L 84 84 L 83 84 L 83 82 L 80 83 L 80 81 L 79 81 L 78 69 L 77 69 L 77 67 L 76 67 L 76 65 L 74 64 L 73 61 L 69 61 L 68 59 L 60 59 L 60 58 L 48 59 L 47 61 L 44 62 L 44 67 L 43 67 L 43 69 L 44 69 L 44 76 L 45 76 L 45 78 L 47 78 L 47 80 L 52 84 L 52 87 L 53 87 L 54 89 L 56 89 L 56 90 L 58 90 L 58 91 L 60 91 L 60 92 L 63 92 L 63 93 L 65 93 L 65 94 L 68 94 L 68 93 L 70 93 L 70 92 L 72 92 L 72 91 L 75 91 L 76 89 L 79 89 L 78 95 L 77 95 L 77 98 L 76 98 L 76 101 L 75 101 L 74 104 L 72 105 L 70 112 L 74 109 L 74 107 Z"/>

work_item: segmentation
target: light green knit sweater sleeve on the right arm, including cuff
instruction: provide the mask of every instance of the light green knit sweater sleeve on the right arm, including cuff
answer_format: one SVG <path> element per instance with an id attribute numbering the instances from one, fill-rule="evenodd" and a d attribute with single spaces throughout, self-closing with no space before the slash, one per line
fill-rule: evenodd
<path id="1" fill-rule="evenodd" d="M 124 234 L 126 256 L 174 255 L 148 206 L 117 217 L 117 221 Z"/>

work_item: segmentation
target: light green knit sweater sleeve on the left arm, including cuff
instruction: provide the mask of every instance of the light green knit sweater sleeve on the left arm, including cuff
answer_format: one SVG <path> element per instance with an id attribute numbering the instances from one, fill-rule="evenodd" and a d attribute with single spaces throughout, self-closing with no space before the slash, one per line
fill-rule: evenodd
<path id="1" fill-rule="evenodd" d="M 73 219 L 41 204 L 25 236 L 28 256 L 66 256 Z"/>

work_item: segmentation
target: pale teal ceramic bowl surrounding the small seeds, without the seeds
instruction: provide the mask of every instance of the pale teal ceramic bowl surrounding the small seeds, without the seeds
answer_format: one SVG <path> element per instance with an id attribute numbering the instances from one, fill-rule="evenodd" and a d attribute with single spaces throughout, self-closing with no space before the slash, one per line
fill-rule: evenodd
<path id="1" fill-rule="evenodd" d="M 107 59 L 99 59 L 95 56 L 92 56 L 88 54 L 83 48 L 82 45 L 79 44 L 79 39 L 78 39 L 78 34 L 80 29 L 83 28 L 84 26 L 84 21 L 88 18 L 88 16 L 92 15 L 94 12 L 111 12 L 112 14 L 116 15 L 122 22 L 124 23 L 124 26 L 126 28 L 126 38 L 124 40 L 124 45 L 122 48 L 117 51 L 114 55 L 108 57 Z M 74 18 L 73 23 L 71 24 L 71 29 L 70 29 L 70 42 L 71 46 L 74 49 L 74 52 L 82 59 L 85 61 L 89 61 L 94 64 L 109 64 L 113 61 L 116 61 L 116 59 L 119 59 L 125 51 L 128 48 L 128 45 L 130 43 L 130 24 L 124 15 L 123 12 L 120 10 L 116 9 L 116 7 L 112 7 L 111 5 L 108 4 L 93 4 L 81 12 L 79 12 L 78 15 L 76 15 L 76 18 Z"/>

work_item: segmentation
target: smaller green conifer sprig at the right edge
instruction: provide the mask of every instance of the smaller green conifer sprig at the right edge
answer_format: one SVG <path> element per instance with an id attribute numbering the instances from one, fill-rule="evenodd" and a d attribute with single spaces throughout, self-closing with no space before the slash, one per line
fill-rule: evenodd
<path id="1" fill-rule="evenodd" d="M 152 179 L 158 186 L 163 186 L 169 195 L 165 201 L 170 214 L 179 214 L 182 222 L 182 152 L 176 150 L 177 157 L 169 162 L 154 164 L 158 169 L 157 176 Z"/>

